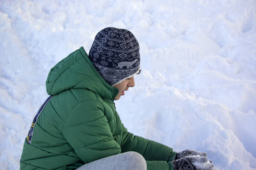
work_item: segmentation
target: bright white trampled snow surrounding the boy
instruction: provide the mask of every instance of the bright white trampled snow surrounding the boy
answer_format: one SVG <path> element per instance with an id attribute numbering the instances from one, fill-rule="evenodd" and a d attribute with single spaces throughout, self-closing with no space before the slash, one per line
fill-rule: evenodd
<path id="1" fill-rule="evenodd" d="M 0 169 L 19 169 L 51 67 L 105 27 L 141 46 L 142 73 L 116 102 L 129 131 L 256 169 L 255 0 L 0 0 Z"/>

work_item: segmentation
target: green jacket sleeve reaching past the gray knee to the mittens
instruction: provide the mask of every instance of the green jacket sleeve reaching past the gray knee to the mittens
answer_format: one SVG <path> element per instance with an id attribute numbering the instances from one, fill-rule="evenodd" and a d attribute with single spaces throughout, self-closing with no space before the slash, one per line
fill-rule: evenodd
<path id="1" fill-rule="evenodd" d="M 122 152 L 135 151 L 147 162 L 147 169 L 169 169 L 168 161 L 175 158 L 176 152 L 161 143 L 135 136 L 127 132 L 123 134 Z"/>

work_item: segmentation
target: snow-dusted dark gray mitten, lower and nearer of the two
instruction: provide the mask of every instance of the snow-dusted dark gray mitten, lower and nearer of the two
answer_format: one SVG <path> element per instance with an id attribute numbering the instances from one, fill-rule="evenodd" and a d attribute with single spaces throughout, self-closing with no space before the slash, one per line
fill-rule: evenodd
<path id="1" fill-rule="evenodd" d="M 213 170 L 213 163 L 206 157 L 185 156 L 171 162 L 174 170 Z"/>

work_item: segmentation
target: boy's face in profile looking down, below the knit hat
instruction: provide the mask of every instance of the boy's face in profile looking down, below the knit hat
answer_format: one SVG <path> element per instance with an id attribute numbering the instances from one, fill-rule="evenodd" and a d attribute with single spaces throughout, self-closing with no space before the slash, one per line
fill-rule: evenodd
<path id="1" fill-rule="evenodd" d="M 135 86 L 134 77 L 125 79 L 121 83 L 115 84 L 115 86 L 113 87 L 116 87 L 119 90 L 119 93 L 117 94 L 117 96 L 115 96 L 115 100 L 119 100 L 121 96 L 125 95 L 125 91 L 127 91 L 129 87 L 134 87 L 134 86 Z"/>

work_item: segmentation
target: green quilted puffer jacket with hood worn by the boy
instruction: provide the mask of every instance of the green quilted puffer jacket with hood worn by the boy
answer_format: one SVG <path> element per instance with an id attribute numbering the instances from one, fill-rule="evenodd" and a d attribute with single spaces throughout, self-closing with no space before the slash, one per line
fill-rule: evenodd
<path id="1" fill-rule="evenodd" d="M 34 118 L 20 169 L 76 169 L 127 151 L 143 155 L 147 169 L 169 168 L 176 153 L 127 131 L 113 103 L 118 89 L 105 82 L 84 48 L 49 71 L 46 88 L 51 97 Z"/>

